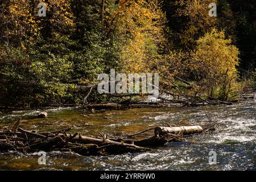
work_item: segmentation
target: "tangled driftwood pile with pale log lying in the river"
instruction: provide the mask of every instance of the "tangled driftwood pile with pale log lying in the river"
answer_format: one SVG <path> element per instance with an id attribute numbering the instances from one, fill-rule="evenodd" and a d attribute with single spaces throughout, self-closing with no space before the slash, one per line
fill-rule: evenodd
<path id="1" fill-rule="evenodd" d="M 71 128 L 52 131 L 48 133 L 36 133 L 27 131 L 19 126 L 19 121 L 15 123 L 13 129 L 4 129 L 0 132 L 0 152 L 20 151 L 70 151 L 80 155 L 112 155 L 126 152 L 142 152 L 151 150 L 154 146 L 161 146 L 166 142 L 183 139 L 186 135 L 201 133 L 204 131 L 200 126 L 182 127 L 155 127 L 145 131 L 122 135 L 113 133 L 108 138 L 106 135 L 101 137 L 85 137 L 80 133 L 67 134 Z M 151 137 L 146 134 L 154 130 Z M 118 135 L 118 137 L 117 137 Z M 147 136 L 145 138 L 145 136 Z M 138 139 L 144 137 L 142 139 Z M 137 139 L 136 139 L 137 138 Z M 148 148 L 150 147 L 150 148 Z"/>

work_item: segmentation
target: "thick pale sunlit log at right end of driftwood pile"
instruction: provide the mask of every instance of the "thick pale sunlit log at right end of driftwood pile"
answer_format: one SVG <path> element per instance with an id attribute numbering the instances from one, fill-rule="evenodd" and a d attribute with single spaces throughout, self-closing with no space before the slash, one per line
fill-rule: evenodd
<path id="1" fill-rule="evenodd" d="M 194 133 L 200 133 L 203 131 L 201 126 L 179 126 L 179 127 L 156 127 L 155 135 L 166 135 L 166 134 L 183 134 L 189 135 Z"/>

